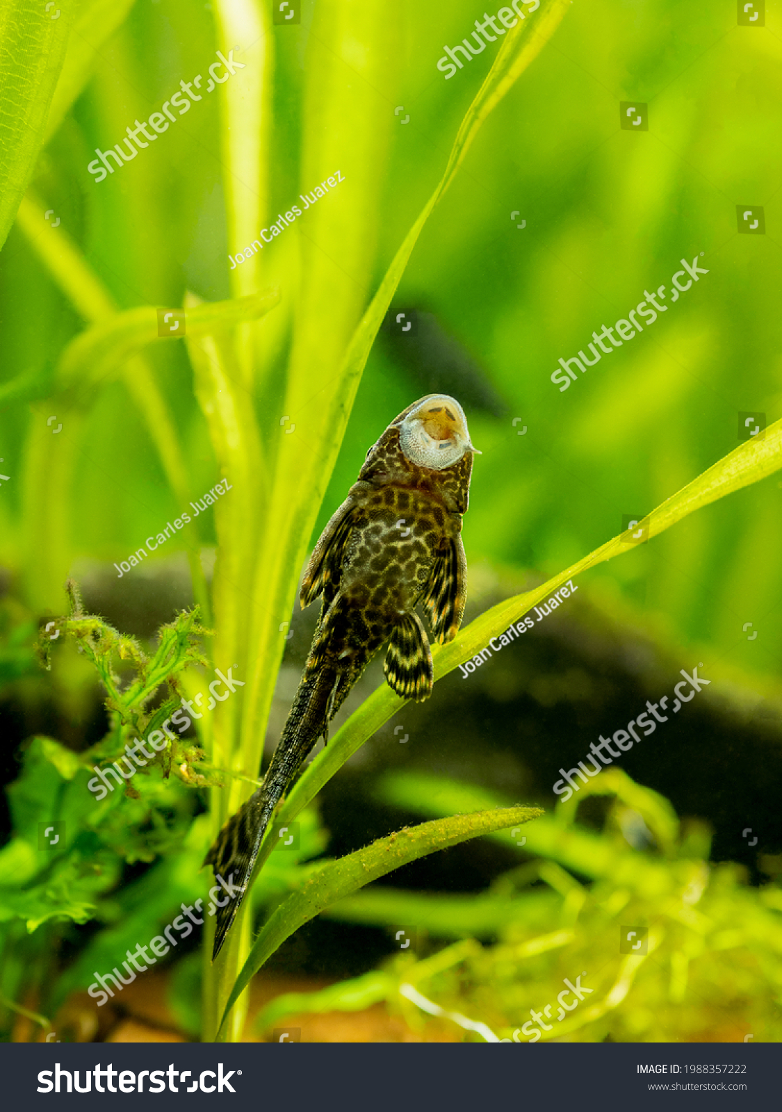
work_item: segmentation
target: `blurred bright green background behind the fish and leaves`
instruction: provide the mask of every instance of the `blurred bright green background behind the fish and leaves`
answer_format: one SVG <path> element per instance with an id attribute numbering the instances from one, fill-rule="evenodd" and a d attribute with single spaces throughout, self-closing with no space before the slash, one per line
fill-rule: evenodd
<path id="1" fill-rule="evenodd" d="M 476 14 L 457 0 L 427 10 L 400 3 L 389 17 L 394 77 L 388 88 L 370 91 L 388 106 L 387 159 L 370 168 L 378 196 L 375 279 L 442 172 L 493 57 L 489 46 L 447 81 L 436 69 L 443 44 L 467 34 Z M 768 137 L 782 79 L 773 18 L 754 29 L 736 26 L 730 3 L 574 4 L 489 118 L 428 221 L 396 300 L 436 315 L 505 413 L 503 419 L 469 414 L 484 450 L 465 525 L 472 563 L 499 559 L 552 573 L 618 532 L 623 514 L 646 513 L 735 447 L 740 410 L 765 411 L 769 421 L 780 416 L 782 155 Z M 275 31 L 273 214 L 314 188 L 298 160 L 301 68 L 317 64 L 323 49 L 310 22 L 305 3 L 300 26 Z M 186 288 L 225 298 L 228 252 L 246 246 L 227 242 L 215 99 L 192 106 L 106 181 L 96 183 L 86 169 L 96 147 L 120 141 L 129 122 L 147 118 L 212 54 L 209 6 L 133 4 L 41 159 L 36 190 L 122 307 L 177 306 Z M 355 95 L 365 93 L 356 78 Z M 649 131 L 620 130 L 621 100 L 649 105 Z M 405 126 L 394 116 L 398 103 L 409 113 Z M 349 172 L 339 189 L 329 201 L 339 206 L 335 218 L 349 219 L 363 203 Z M 738 235 L 740 203 L 764 206 L 764 236 Z M 523 230 L 513 210 L 526 219 Z M 285 278 L 284 255 L 306 234 L 305 215 L 265 249 L 269 281 Z M 550 380 L 560 356 L 575 355 L 593 329 L 624 317 L 644 289 L 669 285 L 680 258 L 699 251 L 709 276 L 560 394 Z M 29 371 L 44 383 L 78 320 L 18 230 L 2 252 L 0 284 L 3 380 Z M 211 484 L 214 459 L 185 353 L 160 345 L 151 358 L 200 493 Z M 318 527 L 368 444 L 416 389 L 398 351 L 394 359 L 376 346 Z M 274 393 L 265 403 L 271 429 L 283 414 Z M 516 416 L 517 428 L 527 426 L 524 437 L 512 425 Z M 19 568 L 26 512 L 13 477 L 28 424 L 23 406 L 3 406 L 11 481 L 0 499 L 0 553 L 11 569 Z M 125 558 L 180 507 L 122 386 L 101 391 L 88 443 L 77 474 L 76 550 Z M 707 641 L 742 667 L 773 673 L 782 631 L 760 618 L 780 602 L 780 492 L 779 480 L 761 484 L 594 575 L 631 595 L 642 584 L 646 606 L 676 636 Z M 745 620 L 762 628 L 758 644 L 741 636 Z"/>

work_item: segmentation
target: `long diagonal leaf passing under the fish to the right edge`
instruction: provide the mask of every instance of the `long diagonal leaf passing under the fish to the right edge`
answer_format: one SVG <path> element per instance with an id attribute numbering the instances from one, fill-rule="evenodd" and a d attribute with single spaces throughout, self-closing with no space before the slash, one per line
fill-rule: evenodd
<path id="1" fill-rule="evenodd" d="M 782 467 L 782 420 L 771 425 L 765 430 L 762 440 L 749 440 L 729 453 L 709 470 L 652 510 L 642 524 L 649 527 L 649 537 L 655 537 L 696 509 L 701 509 L 734 490 L 740 490 L 744 486 L 766 478 L 780 467 Z M 547 583 L 535 587 L 534 590 L 516 595 L 514 598 L 508 598 L 493 606 L 492 609 L 475 618 L 457 634 L 449 645 L 434 645 L 432 657 L 435 663 L 435 681 L 441 679 L 459 664 L 464 664 L 475 656 L 488 644 L 492 637 L 504 633 L 512 622 L 517 622 L 562 584 L 634 547 L 630 532 L 622 533 L 564 572 L 553 576 Z M 293 820 L 303 807 L 311 802 L 348 757 L 360 748 L 402 705 L 403 699 L 395 695 L 387 684 L 383 684 L 373 692 L 337 732 L 328 747 L 321 749 L 306 768 L 284 802 L 279 820 L 281 822 Z M 270 843 L 265 843 L 258 855 L 259 865 L 266 860 L 269 852 Z"/>

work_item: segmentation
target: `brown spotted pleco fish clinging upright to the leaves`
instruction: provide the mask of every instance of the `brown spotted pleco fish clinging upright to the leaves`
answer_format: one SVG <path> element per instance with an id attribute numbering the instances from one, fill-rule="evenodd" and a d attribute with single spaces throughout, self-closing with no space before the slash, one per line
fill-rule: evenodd
<path id="1" fill-rule="evenodd" d="M 424 606 L 435 639 L 462 622 L 467 563 L 462 516 L 473 454 L 457 401 L 429 394 L 392 421 L 367 453 L 347 498 L 324 529 L 301 584 L 301 606 L 323 595 L 304 675 L 264 783 L 229 818 L 204 864 L 236 876 L 237 898 L 217 913 L 220 952 L 275 807 L 375 653 L 388 642 L 384 672 L 403 698 L 432 693 Z"/>

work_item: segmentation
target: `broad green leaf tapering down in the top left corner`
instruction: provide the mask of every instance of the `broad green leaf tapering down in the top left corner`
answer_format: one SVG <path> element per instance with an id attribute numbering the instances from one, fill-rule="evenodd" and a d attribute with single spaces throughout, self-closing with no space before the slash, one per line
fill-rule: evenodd
<path id="1" fill-rule="evenodd" d="M 57 19 L 30 0 L 0 4 L 0 247 L 43 145 L 71 21 L 69 4 Z"/>

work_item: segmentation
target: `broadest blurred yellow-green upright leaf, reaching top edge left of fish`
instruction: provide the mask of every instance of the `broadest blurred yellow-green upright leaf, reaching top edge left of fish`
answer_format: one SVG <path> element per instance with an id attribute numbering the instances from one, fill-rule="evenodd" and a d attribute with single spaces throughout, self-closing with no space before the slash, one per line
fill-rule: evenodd
<path id="1" fill-rule="evenodd" d="M 327 196 L 305 209 L 297 232 L 300 285 L 291 295 L 294 331 L 281 409 L 293 417 L 285 433 L 277 426 L 277 435 L 269 437 L 276 450 L 274 500 L 253 586 L 254 596 L 267 599 L 276 620 L 269 620 L 267 612 L 254 614 L 254 656 L 248 662 L 241 731 L 246 767 L 257 767 L 260 759 L 263 724 L 285 645 L 278 627 L 290 615 L 298 580 L 300 556 L 291 546 L 296 552 L 306 546 L 309 538 L 299 532 L 311 530 L 318 510 L 313 481 L 323 444 L 343 436 L 341 428 L 329 429 L 324 420 L 372 278 L 383 167 L 394 119 L 387 96 L 377 90 L 393 89 L 397 80 L 398 24 L 398 17 L 389 20 L 382 0 L 364 4 L 324 0 L 315 9 L 305 70 L 299 189 L 313 190 L 331 176 L 337 193 L 328 196 L 326 185 L 321 193 Z M 304 524 L 301 515 L 308 513 Z"/>

